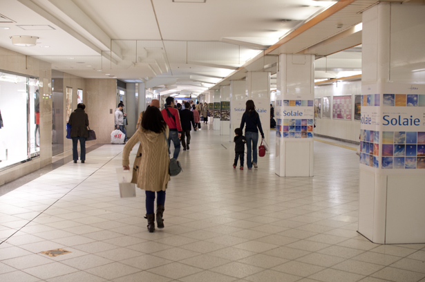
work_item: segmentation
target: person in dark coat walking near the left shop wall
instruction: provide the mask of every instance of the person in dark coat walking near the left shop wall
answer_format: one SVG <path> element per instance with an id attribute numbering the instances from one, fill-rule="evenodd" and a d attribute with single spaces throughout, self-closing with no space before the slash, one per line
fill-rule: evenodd
<path id="1" fill-rule="evenodd" d="M 79 140 L 80 146 L 80 160 L 82 163 L 86 160 L 86 138 L 88 138 L 88 115 L 84 112 L 86 105 L 79 103 L 77 109 L 70 114 L 69 125 L 71 126 L 70 137 L 73 139 L 73 160 L 77 163 L 78 151 L 77 144 Z"/>

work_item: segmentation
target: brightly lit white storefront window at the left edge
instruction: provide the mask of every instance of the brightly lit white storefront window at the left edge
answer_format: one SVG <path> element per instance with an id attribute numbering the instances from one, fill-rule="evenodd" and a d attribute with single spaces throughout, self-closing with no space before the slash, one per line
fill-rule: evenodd
<path id="1" fill-rule="evenodd" d="M 39 152 L 39 80 L 0 73 L 0 169 Z"/>

